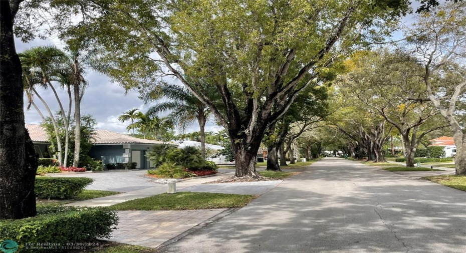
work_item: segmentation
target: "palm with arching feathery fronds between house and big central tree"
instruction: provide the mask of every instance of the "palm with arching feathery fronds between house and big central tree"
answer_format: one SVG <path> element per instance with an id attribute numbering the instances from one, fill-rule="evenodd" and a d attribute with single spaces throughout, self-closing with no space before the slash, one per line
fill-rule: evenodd
<path id="1" fill-rule="evenodd" d="M 205 123 L 210 116 L 210 110 L 187 89 L 178 85 L 166 85 L 162 87 L 163 97 L 169 101 L 161 102 L 152 106 L 148 113 L 157 114 L 163 111 L 170 111 L 170 118 L 183 132 L 195 120 L 200 128 L 200 147 L 202 158 L 205 158 Z M 147 98 L 146 101 L 151 100 Z"/>

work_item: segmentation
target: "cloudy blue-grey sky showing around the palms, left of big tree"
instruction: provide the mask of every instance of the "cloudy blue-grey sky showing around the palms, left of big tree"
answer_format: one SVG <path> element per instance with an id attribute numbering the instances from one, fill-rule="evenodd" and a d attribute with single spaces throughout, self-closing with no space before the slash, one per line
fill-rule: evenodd
<path id="1" fill-rule="evenodd" d="M 30 43 L 22 43 L 20 40 L 16 40 L 16 50 L 18 53 L 36 47 L 40 45 L 56 45 L 59 48 L 63 48 L 63 45 L 58 40 L 34 40 Z M 108 77 L 100 73 L 89 71 L 86 76 L 89 82 L 89 87 L 86 89 L 83 100 L 81 102 L 81 115 L 91 114 L 98 122 L 97 128 L 110 130 L 118 133 L 127 133 L 126 126 L 128 122 L 121 123 L 118 121 L 118 116 L 123 112 L 138 108 L 142 112 L 145 112 L 149 105 L 144 105 L 143 101 L 138 98 L 137 91 L 128 91 L 125 94 L 125 89 L 118 84 L 112 83 Z M 176 82 L 176 81 L 173 81 Z M 59 110 L 57 100 L 53 92 L 48 89 L 39 89 L 39 94 L 49 105 L 53 112 Z M 58 89 L 58 93 L 64 107 L 68 105 L 68 95 L 65 90 Z M 34 107 L 27 110 L 27 99 L 25 101 L 25 118 L 28 124 L 40 124 L 42 119 Z M 42 105 L 39 99 L 35 98 L 35 103 L 40 107 L 41 112 L 47 117 L 47 111 Z M 65 108 L 65 110 L 67 110 Z M 218 131 L 220 127 L 215 123 L 208 122 L 206 124 L 206 131 Z M 186 132 L 199 131 L 199 127 L 194 123 Z"/>

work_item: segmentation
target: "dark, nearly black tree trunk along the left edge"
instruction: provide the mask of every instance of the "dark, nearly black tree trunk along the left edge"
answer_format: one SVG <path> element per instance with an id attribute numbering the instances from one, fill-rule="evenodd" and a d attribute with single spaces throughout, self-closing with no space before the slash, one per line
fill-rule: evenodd
<path id="1" fill-rule="evenodd" d="M 0 219 L 36 215 L 37 156 L 25 128 L 23 71 L 13 36 L 18 6 L 0 1 Z"/>

